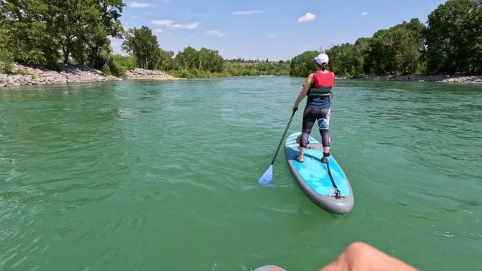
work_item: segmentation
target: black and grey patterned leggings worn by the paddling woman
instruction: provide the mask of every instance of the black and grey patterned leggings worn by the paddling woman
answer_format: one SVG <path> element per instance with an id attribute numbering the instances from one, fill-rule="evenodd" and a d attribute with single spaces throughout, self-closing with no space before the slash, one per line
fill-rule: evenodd
<path id="1" fill-rule="evenodd" d="M 313 128 L 314 122 L 318 120 L 318 125 L 321 134 L 321 144 L 323 147 L 330 146 L 330 132 L 328 128 L 330 127 L 330 108 L 312 108 L 307 106 L 304 108 L 303 112 L 303 131 L 301 139 L 299 140 L 299 146 L 306 148 L 308 145 L 308 137 Z"/>

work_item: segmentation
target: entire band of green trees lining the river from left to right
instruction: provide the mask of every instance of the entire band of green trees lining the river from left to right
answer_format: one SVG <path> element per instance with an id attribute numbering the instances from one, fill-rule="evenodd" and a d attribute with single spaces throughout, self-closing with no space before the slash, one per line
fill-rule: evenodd
<path id="1" fill-rule="evenodd" d="M 290 61 L 227 60 L 211 49 L 161 49 L 147 26 L 124 30 L 122 0 L 0 0 L 0 68 L 17 61 L 60 68 L 89 65 L 123 75 L 125 69 L 162 70 L 178 77 L 237 75 L 306 76 L 321 51 L 338 75 L 482 73 L 482 1 L 448 0 L 430 15 L 378 30 L 354 44 L 305 51 Z M 129 56 L 112 53 L 123 38 Z"/>

